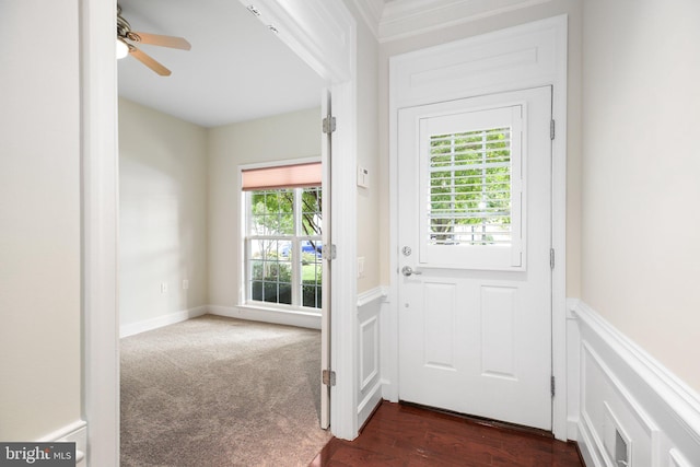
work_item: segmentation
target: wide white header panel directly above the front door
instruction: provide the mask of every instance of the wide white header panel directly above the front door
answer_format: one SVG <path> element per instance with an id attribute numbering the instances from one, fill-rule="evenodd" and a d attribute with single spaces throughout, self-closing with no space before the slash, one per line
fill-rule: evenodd
<path id="1" fill-rule="evenodd" d="M 565 42 L 565 17 L 558 16 L 394 56 L 394 104 L 404 108 L 552 84 L 565 63 L 562 34 Z"/>

